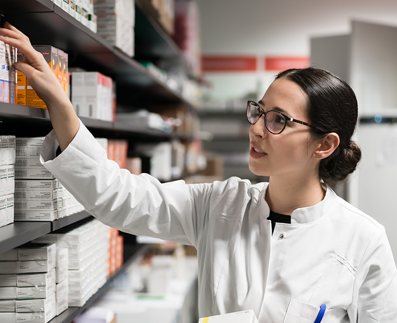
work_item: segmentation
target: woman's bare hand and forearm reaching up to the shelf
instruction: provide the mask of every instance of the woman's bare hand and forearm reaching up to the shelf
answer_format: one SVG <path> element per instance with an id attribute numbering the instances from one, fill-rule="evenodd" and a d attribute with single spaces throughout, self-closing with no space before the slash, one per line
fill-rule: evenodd
<path id="1" fill-rule="evenodd" d="M 14 26 L 4 23 L 4 28 L 0 28 L 0 40 L 22 53 L 24 60 L 16 62 L 15 69 L 26 75 L 31 87 L 46 103 L 61 151 L 65 150 L 75 138 L 80 123 L 61 83 L 43 55 L 31 46 L 29 38 Z"/>

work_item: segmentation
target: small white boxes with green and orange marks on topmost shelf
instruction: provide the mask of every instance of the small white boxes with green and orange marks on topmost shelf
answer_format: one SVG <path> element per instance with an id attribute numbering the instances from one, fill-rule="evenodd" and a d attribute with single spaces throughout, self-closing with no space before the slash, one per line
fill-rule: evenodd
<path id="1" fill-rule="evenodd" d="M 96 32 L 93 0 L 54 0 L 54 3 L 91 31 Z"/>

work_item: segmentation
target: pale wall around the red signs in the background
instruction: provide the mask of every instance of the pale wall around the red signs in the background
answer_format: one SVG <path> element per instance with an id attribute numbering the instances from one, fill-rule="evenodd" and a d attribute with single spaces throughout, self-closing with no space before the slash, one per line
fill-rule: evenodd
<path id="1" fill-rule="evenodd" d="M 348 34 L 351 20 L 397 26 L 395 0 L 199 0 L 204 55 L 309 56 L 310 38 Z M 209 96 L 263 95 L 272 73 L 208 73 Z"/>

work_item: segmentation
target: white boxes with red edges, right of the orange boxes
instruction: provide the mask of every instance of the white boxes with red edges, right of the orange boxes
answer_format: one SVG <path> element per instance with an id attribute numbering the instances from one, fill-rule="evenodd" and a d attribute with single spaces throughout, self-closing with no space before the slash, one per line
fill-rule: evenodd
<path id="1" fill-rule="evenodd" d="M 80 117 L 114 121 L 115 82 L 99 72 L 73 72 L 71 101 Z"/>

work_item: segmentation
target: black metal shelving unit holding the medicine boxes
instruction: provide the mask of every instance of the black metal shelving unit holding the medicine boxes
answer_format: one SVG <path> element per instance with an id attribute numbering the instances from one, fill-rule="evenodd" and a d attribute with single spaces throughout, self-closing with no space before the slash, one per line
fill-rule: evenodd
<path id="1" fill-rule="evenodd" d="M 52 45 L 69 54 L 69 66 L 82 66 L 112 77 L 117 83 L 117 99 L 122 106 L 145 108 L 157 103 L 176 103 L 185 105 L 192 111 L 195 108 L 179 92 L 171 90 L 168 85 L 143 67 L 136 59 L 128 57 L 109 45 L 99 35 L 90 31 L 80 22 L 57 7 L 51 0 L 1 0 L 0 13 L 20 31 L 27 34 L 32 44 Z M 180 64 L 191 76 L 182 52 L 169 35 L 146 14 L 144 8 L 136 4 L 137 58 L 163 59 Z M 144 35 L 147 43 L 142 45 Z M 123 95 L 128 93 L 128 97 Z M 148 100 L 148 97 L 150 100 Z M 126 104 L 128 100 L 128 104 Z M 165 133 L 159 130 L 131 129 L 120 122 L 105 122 L 80 117 L 81 121 L 92 131 L 94 136 L 107 138 L 128 138 L 139 140 L 170 140 L 179 138 L 191 140 L 189 136 Z M 15 104 L 0 103 L 0 129 L 3 134 L 17 136 L 45 136 L 51 130 L 51 122 L 46 109 L 32 108 Z M 53 222 L 15 222 L 0 228 L 0 253 L 27 243 L 52 231 L 64 231 L 78 223 L 88 221 L 92 215 L 83 211 Z M 149 246 L 137 245 L 134 236 L 124 239 L 124 264 L 107 283 L 96 292 L 81 308 L 68 308 L 50 323 L 71 323 L 78 314 L 88 308 L 92 302 L 107 290 L 112 280 L 144 253 Z"/>

